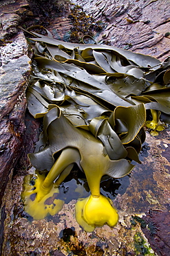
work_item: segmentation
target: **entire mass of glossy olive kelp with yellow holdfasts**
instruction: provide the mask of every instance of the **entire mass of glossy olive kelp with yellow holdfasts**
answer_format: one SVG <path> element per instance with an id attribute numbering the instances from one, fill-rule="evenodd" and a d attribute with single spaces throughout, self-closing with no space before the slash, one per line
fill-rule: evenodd
<path id="1" fill-rule="evenodd" d="M 100 179 L 123 177 L 133 169 L 131 161 L 140 163 L 146 110 L 153 114 L 147 126 L 154 132 L 169 122 L 170 61 L 114 46 L 61 42 L 48 31 L 31 33 L 36 43 L 28 109 L 43 118 L 43 131 L 29 154 L 37 171 L 25 179 L 25 211 L 34 219 L 59 212 L 59 185 L 76 164 L 91 191 L 76 203 L 76 220 L 89 232 L 114 226 L 118 214 L 100 194 Z"/>

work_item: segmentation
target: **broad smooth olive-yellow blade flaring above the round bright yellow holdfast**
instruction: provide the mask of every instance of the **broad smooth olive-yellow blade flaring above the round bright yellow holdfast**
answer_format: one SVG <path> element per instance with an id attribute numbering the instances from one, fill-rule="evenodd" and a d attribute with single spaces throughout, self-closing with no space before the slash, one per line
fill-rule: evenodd
<path id="1" fill-rule="evenodd" d="M 59 107 L 53 107 L 45 114 L 41 142 L 42 145 L 39 145 L 39 152 L 29 154 L 32 165 L 41 171 L 50 170 L 54 165 L 56 154 L 60 154 L 66 148 L 78 149 L 81 154 L 81 161 L 77 164 L 82 168 L 86 176 L 90 174 L 90 176 L 98 175 L 102 177 L 108 174 L 119 178 L 120 176 L 125 176 L 134 167 L 126 159 L 112 161 L 105 154 L 103 143 L 92 136 L 89 131 L 74 127 L 63 116 Z M 97 165 L 96 162 L 98 163 Z M 97 181 L 96 187 L 98 188 Z"/>

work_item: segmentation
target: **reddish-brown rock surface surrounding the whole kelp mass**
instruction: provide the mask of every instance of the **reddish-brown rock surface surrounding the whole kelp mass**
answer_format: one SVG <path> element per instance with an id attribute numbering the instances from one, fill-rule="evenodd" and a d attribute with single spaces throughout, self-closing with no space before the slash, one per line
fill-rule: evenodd
<path id="1" fill-rule="evenodd" d="M 1 205 L 2 255 L 167 255 L 169 129 L 155 138 L 147 133 L 148 144 L 140 156 L 142 165 L 136 165 L 129 177 L 121 179 L 120 190 L 114 195 L 119 214 L 116 227 L 103 226 L 92 233 L 83 231 L 75 221 L 74 196 L 52 218 L 32 221 L 23 211 L 21 191 L 27 172 L 24 167 L 28 165 L 25 156 L 34 148 L 39 122 L 27 112 L 25 116 L 30 57 L 25 36 L 17 26 L 41 24 L 54 37 L 73 41 L 89 32 L 100 43 L 129 48 L 160 60 L 169 54 L 169 35 L 164 36 L 169 32 L 169 0 L 72 3 L 83 6 L 85 12 L 81 7 L 73 12 L 69 1 L 0 1 L 1 196 L 5 192 Z M 74 194 L 72 188 L 63 189 L 66 195 Z"/>

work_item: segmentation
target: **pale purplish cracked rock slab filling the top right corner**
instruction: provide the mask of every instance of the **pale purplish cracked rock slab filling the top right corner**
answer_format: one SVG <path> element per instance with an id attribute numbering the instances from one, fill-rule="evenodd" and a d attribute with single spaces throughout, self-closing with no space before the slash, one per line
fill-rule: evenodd
<path id="1" fill-rule="evenodd" d="M 105 24 L 96 41 L 152 55 L 164 60 L 169 55 L 169 39 L 162 24 L 169 25 L 169 1 L 81 1 L 72 0 Z M 168 28 L 167 28 L 168 30 Z M 164 49 L 162 51 L 162 49 Z"/>

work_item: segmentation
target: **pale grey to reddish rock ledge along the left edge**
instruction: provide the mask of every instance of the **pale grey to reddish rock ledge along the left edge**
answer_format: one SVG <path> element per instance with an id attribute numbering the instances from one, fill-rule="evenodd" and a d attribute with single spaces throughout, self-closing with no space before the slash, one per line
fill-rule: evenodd
<path id="1" fill-rule="evenodd" d="M 0 204 L 8 175 L 24 150 L 25 89 L 31 66 L 25 36 L 17 33 L 18 22 L 16 14 L 1 15 L 1 38 L 10 40 L 0 47 Z"/>

